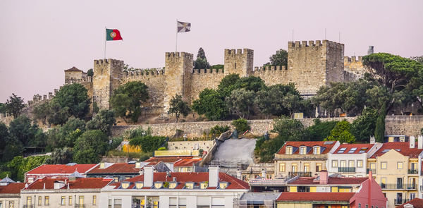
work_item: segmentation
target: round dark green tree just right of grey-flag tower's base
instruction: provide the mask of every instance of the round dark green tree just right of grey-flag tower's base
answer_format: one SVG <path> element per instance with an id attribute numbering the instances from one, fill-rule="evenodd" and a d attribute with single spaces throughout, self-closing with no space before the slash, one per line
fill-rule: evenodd
<path id="1" fill-rule="evenodd" d="M 216 91 L 209 88 L 202 90 L 199 98 L 192 102 L 192 109 L 198 114 L 204 114 L 207 119 L 216 121 L 228 116 L 228 107 L 224 97 Z"/>

